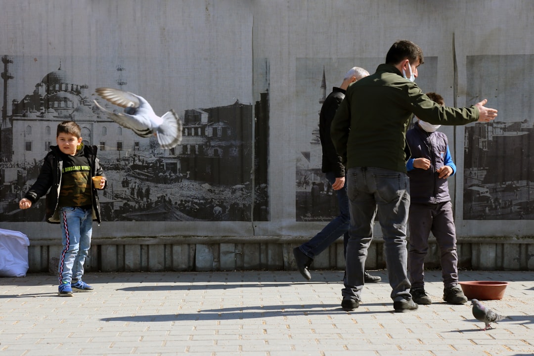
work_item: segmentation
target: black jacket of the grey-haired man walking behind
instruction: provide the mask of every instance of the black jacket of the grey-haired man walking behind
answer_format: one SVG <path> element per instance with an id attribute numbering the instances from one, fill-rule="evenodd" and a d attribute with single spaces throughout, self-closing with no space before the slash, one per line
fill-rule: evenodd
<path id="1" fill-rule="evenodd" d="M 334 86 L 332 92 L 328 94 L 321 113 L 319 114 L 319 137 L 321 139 L 321 148 L 323 148 L 323 172 L 334 172 L 336 178 L 345 176 L 345 167 L 341 162 L 341 157 L 337 155 L 334 144 L 330 138 L 330 125 L 334 118 L 335 112 L 343 98 L 345 91 Z"/>

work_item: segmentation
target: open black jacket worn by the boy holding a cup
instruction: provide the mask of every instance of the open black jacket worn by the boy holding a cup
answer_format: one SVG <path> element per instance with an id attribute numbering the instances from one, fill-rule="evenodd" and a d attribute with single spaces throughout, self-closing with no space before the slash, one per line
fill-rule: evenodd
<path id="1" fill-rule="evenodd" d="M 83 154 L 89 159 L 91 165 L 90 176 L 104 176 L 104 171 L 100 167 L 100 161 L 97 158 L 97 146 L 83 146 Z M 37 177 L 37 180 L 24 196 L 34 204 L 43 195 L 46 194 L 46 221 L 51 224 L 59 224 L 58 199 L 59 189 L 61 188 L 61 175 L 63 171 L 63 160 L 61 159 L 58 146 L 50 146 L 50 152 L 44 157 L 43 167 Z M 92 184 L 92 183 L 91 183 Z M 106 181 L 107 185 L 107 181 Z M 100 220 L 100 203 L 98 202 L 98 193 L 96 188 L 91 189 L 93 205 L 93 221 Z"/>

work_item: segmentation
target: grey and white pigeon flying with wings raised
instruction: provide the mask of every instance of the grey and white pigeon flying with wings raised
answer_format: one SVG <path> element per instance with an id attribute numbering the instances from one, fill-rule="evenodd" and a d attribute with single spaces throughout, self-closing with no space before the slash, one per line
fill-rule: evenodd
<path id="1" fill-rule="evenodd" d="M 124 108 L 124 113 L 113 113 L 95 104 L 117 124 L 131 129 L 140 137 L 155 135 L 162 148 L 172 148 L 182 141 L 182 122 L 174 110 L 163 116 L 154 113 L 143 97 L 113 88 L 97 88 L 96 93 L 107 101 Z"/>

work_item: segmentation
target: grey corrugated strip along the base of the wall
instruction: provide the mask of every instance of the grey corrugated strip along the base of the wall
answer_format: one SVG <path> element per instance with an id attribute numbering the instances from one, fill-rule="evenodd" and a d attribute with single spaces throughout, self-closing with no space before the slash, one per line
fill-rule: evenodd
<path id="1" fill-rule="evenodd" d="M 250 239 L 223 238 L 214 241 L 206 236 L 96 239 L 93 240 L 86 267 L 87 271 L 103 272 L 295 270 L 292 250 L 307 241 L 280 236 L 255 236 L 253 243 Z M 51 242 L 34 241 L 28 248 L 30 272 L 56 272 L 61 246 Z M 439 249 L 435 239 L 431 238 L 425 267 L 439 266 Z M 371 244 L 366 267 L 368 270 L 386 268 L 381 239 L 375 239 Z M 458 242 L 458 267 L 531 271 L 534 269 L 534 239 L 463 238 Z M 332 244 L 317 256 L 312 268 L 343 270 L 342 241 Z"/>

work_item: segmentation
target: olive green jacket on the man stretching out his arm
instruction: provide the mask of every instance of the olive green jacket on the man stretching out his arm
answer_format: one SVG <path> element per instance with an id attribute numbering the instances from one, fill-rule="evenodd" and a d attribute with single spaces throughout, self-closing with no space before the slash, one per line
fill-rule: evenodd
<path id="1" fill-rule="evenodd" d="M 431 124 L 465 125 L 477 121 L 479 113 L 474 106 L 441 106 L 397 68 L 381 64 L 373 75 L 349 85 L 332 121 L 332 141 L 345 167 L 406 172 L 412 114 Z"/>

